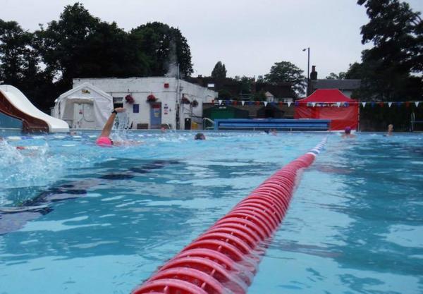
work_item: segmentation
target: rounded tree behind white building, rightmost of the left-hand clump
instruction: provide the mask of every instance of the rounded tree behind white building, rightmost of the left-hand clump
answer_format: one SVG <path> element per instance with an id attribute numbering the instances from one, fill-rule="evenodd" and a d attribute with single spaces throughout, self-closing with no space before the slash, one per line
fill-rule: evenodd
<path id="1" fill-rule="evenodd" d="M 147 55 L 151 75 L 176 76 L 178 65 L 180 74 L 193 73 L 190 47 L 180 30 L 154 22 L 140 25 L 131 30 L 130 35 Z"/>

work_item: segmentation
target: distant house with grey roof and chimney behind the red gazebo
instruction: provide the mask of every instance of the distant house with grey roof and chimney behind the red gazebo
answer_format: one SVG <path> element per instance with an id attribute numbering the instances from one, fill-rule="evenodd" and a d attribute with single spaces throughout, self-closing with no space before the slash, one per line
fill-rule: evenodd
<path id="1" fill-rule="evenodd" d="M 361 80 L 343 79 L 343 80 L 331 80 L 331 79 L 317 79 L 316 66 L 312 66 L 312 72 L 310 73 L 310 94 L 318 89 L 338 89 L 345 96 L 351 97 L 354 90 L 360 88 Z"/>

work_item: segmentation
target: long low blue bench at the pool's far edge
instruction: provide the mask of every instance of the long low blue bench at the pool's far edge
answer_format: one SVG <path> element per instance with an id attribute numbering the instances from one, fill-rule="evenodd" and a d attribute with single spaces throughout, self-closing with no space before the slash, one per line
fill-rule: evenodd
<path id="1" fill-rule="evenodd" d="M 329 130 L 330 124 L 326 119 L 226 118 L 216 119 L 214 130 Z"/>

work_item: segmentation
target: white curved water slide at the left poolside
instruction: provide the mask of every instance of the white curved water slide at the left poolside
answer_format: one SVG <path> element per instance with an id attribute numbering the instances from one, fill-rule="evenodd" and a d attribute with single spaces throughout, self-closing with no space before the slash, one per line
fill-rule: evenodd
<path id="1" fill-rule="evenodd" d="M 35 125 L 35 128 L 37 128 L 37 124 L 47 125 L 49 133 L 66 133 L 69 131 L 69 125 L 66 121 L 44 114 L 44 112 L 37 109 L 37 107 L 25 97 L 25 94 L 20 92 L 16 87 L 11 85 L 0 85 L 0 97 L 1 96 L 6 98 L 7 101 L 3 101 L 0 105 L 0 110 L 5 114 L 19 118 L 23 121 L 24 125 L 25 123 Z M 46 129 L 46 127 L 44 127 L 44 129 Z"/>

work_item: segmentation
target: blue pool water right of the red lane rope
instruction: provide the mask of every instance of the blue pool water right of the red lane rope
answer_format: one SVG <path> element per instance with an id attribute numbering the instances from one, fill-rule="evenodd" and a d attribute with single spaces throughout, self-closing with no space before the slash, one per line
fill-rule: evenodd
<path id="1" fill-rule="evenodd" d="M 423 138 L 329 138 L 251 293 L 422 293 Z"/>

